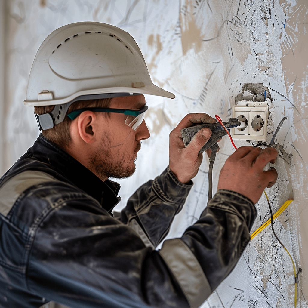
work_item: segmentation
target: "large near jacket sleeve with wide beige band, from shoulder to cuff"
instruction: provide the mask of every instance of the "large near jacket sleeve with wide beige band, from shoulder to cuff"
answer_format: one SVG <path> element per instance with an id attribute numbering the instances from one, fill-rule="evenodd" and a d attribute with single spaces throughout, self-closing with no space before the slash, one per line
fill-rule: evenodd
<path id="1" fill-rule="evenodd" d="M 256 216 L 247 198 L 218 191 L 183 237 L 156 251 L 69 185 L 26 199 L 27 211 L 46 207 L 26 237 L 26 288 L 75 308 L 199 307 L 237 263 Z"/>

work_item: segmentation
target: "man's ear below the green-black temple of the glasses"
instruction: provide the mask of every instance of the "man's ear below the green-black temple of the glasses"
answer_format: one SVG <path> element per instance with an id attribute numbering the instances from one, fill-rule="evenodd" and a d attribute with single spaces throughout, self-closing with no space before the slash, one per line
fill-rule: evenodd
<path id="1" fill-rule="evenodd" d="M 98 116 L 92 111 L 83 111 L 77 120 L 80 138 L 86 143 L 93 143 L 99 129 Z"/>

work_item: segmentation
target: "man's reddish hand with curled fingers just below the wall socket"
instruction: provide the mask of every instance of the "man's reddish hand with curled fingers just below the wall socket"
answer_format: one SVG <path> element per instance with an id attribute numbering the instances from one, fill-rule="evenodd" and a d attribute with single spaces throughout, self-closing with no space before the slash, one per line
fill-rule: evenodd
<path id="1" fill-rule="evenodd" d="M 217 189 L 233 190 L 257 203 L 265 187 L 272 187 L 277 180 L 275 168 L 262 171 L 267 163 L 274 164 L 276 158 L 274 148 L 238 148 L 222 167 Z"/>

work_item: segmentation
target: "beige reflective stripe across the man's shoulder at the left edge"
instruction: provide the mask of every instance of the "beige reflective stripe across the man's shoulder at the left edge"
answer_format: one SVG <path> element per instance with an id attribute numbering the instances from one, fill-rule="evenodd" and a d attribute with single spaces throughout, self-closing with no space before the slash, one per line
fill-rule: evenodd
<path id="1" fill-rule="evenodd" d="M 19 195 L 33 185 L 43 182 L 59 181 L 48 173 L 28 170 L 13 176 L 0 188 L 0 213 L 6 216 Z"/>

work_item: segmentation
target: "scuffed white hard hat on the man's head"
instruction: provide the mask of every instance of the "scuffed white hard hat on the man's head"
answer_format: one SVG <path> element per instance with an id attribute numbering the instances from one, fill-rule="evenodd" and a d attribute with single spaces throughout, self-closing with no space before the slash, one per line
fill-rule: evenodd
<path id="1" fill-rule="evenodd" d="M 24 104 L 67 107 L 67 103 L 81 99 L 139 94 L 175 97 L 152 83 L 130 34 L 100 22 L 77 22 L 53 31 L 42 43 L 31 68 Z M 53 115 L 54 124 L 63 121 L 68 107 L 61 108 L 59 121 Z"/>

